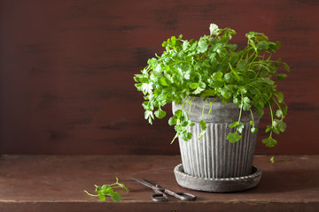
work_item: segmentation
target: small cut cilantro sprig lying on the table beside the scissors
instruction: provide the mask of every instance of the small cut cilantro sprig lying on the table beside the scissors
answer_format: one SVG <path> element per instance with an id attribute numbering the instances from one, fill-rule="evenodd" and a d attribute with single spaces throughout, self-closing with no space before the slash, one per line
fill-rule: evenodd
<path id="1" fill-rule="evenodd" d="M 91 194 L 87 191 L 84 191 L 89 196 L 98 197 L 100 201 L 105 201 L 106 197 L 109 196 L 113 201 L 122 201 L 121 200 L 121 194 L 118 192 L 114 192 L 115 188 L 122 188 L 125 191 L 128 192 L 128 187 L 124 186 L 124 184 L 119 183 L 119 179 L 116 178 L 116 182 L 111 185 L 103 185 L 103 186 L 96 186 L 96 192 L 97 194 Z"/>

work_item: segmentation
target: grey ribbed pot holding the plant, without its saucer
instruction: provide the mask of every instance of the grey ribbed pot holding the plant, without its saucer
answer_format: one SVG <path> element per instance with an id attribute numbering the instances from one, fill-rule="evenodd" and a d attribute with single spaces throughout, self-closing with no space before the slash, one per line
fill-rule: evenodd
<path id="1" fill-rule="evenodd" d="M 222 103 L 215 101 L 210 110 L 210 103 L 214 101 L 209 98 L 205 104 L 203 119 L 206 121 L 206 133 L 198 140 L 200 129 L 200 118 L 205 98 L 194 97 L 191 102 L 191 121 L 195 123 L 189 130 L 193 134 L 191 140 L 179 140 L 182 156 L 183 170 L 185 173 L 198 178 L 237 178 L 248 176 L 252 172 L 253 155 L 257 139 L 257 133 L 251 133 L 250 111 L 242 111 L 240 121 L 245 125 L 241 140 L 230 143 L 227 134 L 235 132 L 229 125 L 238 120 L 240 109 L 233 103 Z M 181 104 L 173 102 L 173 113 L 181 109 Z M 187 107 L 185 111 L 189 111 Z M 258 127 L 260 117 L 253 113 L 255 127 Z"/>

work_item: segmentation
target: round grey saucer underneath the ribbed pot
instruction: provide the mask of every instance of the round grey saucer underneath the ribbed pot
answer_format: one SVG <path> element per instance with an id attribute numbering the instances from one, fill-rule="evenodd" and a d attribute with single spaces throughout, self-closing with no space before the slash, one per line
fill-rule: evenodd
<path id="1" fill-rule="evenodd" d="M 257 186 L 261 180 L 261 170 L 254 165 L 251 175 L 239 178 L 198 178 L 184 173 L 183 164 L 178 164 L 174 173 L 179 186 L 212 193 L 243 191 Z"/>

